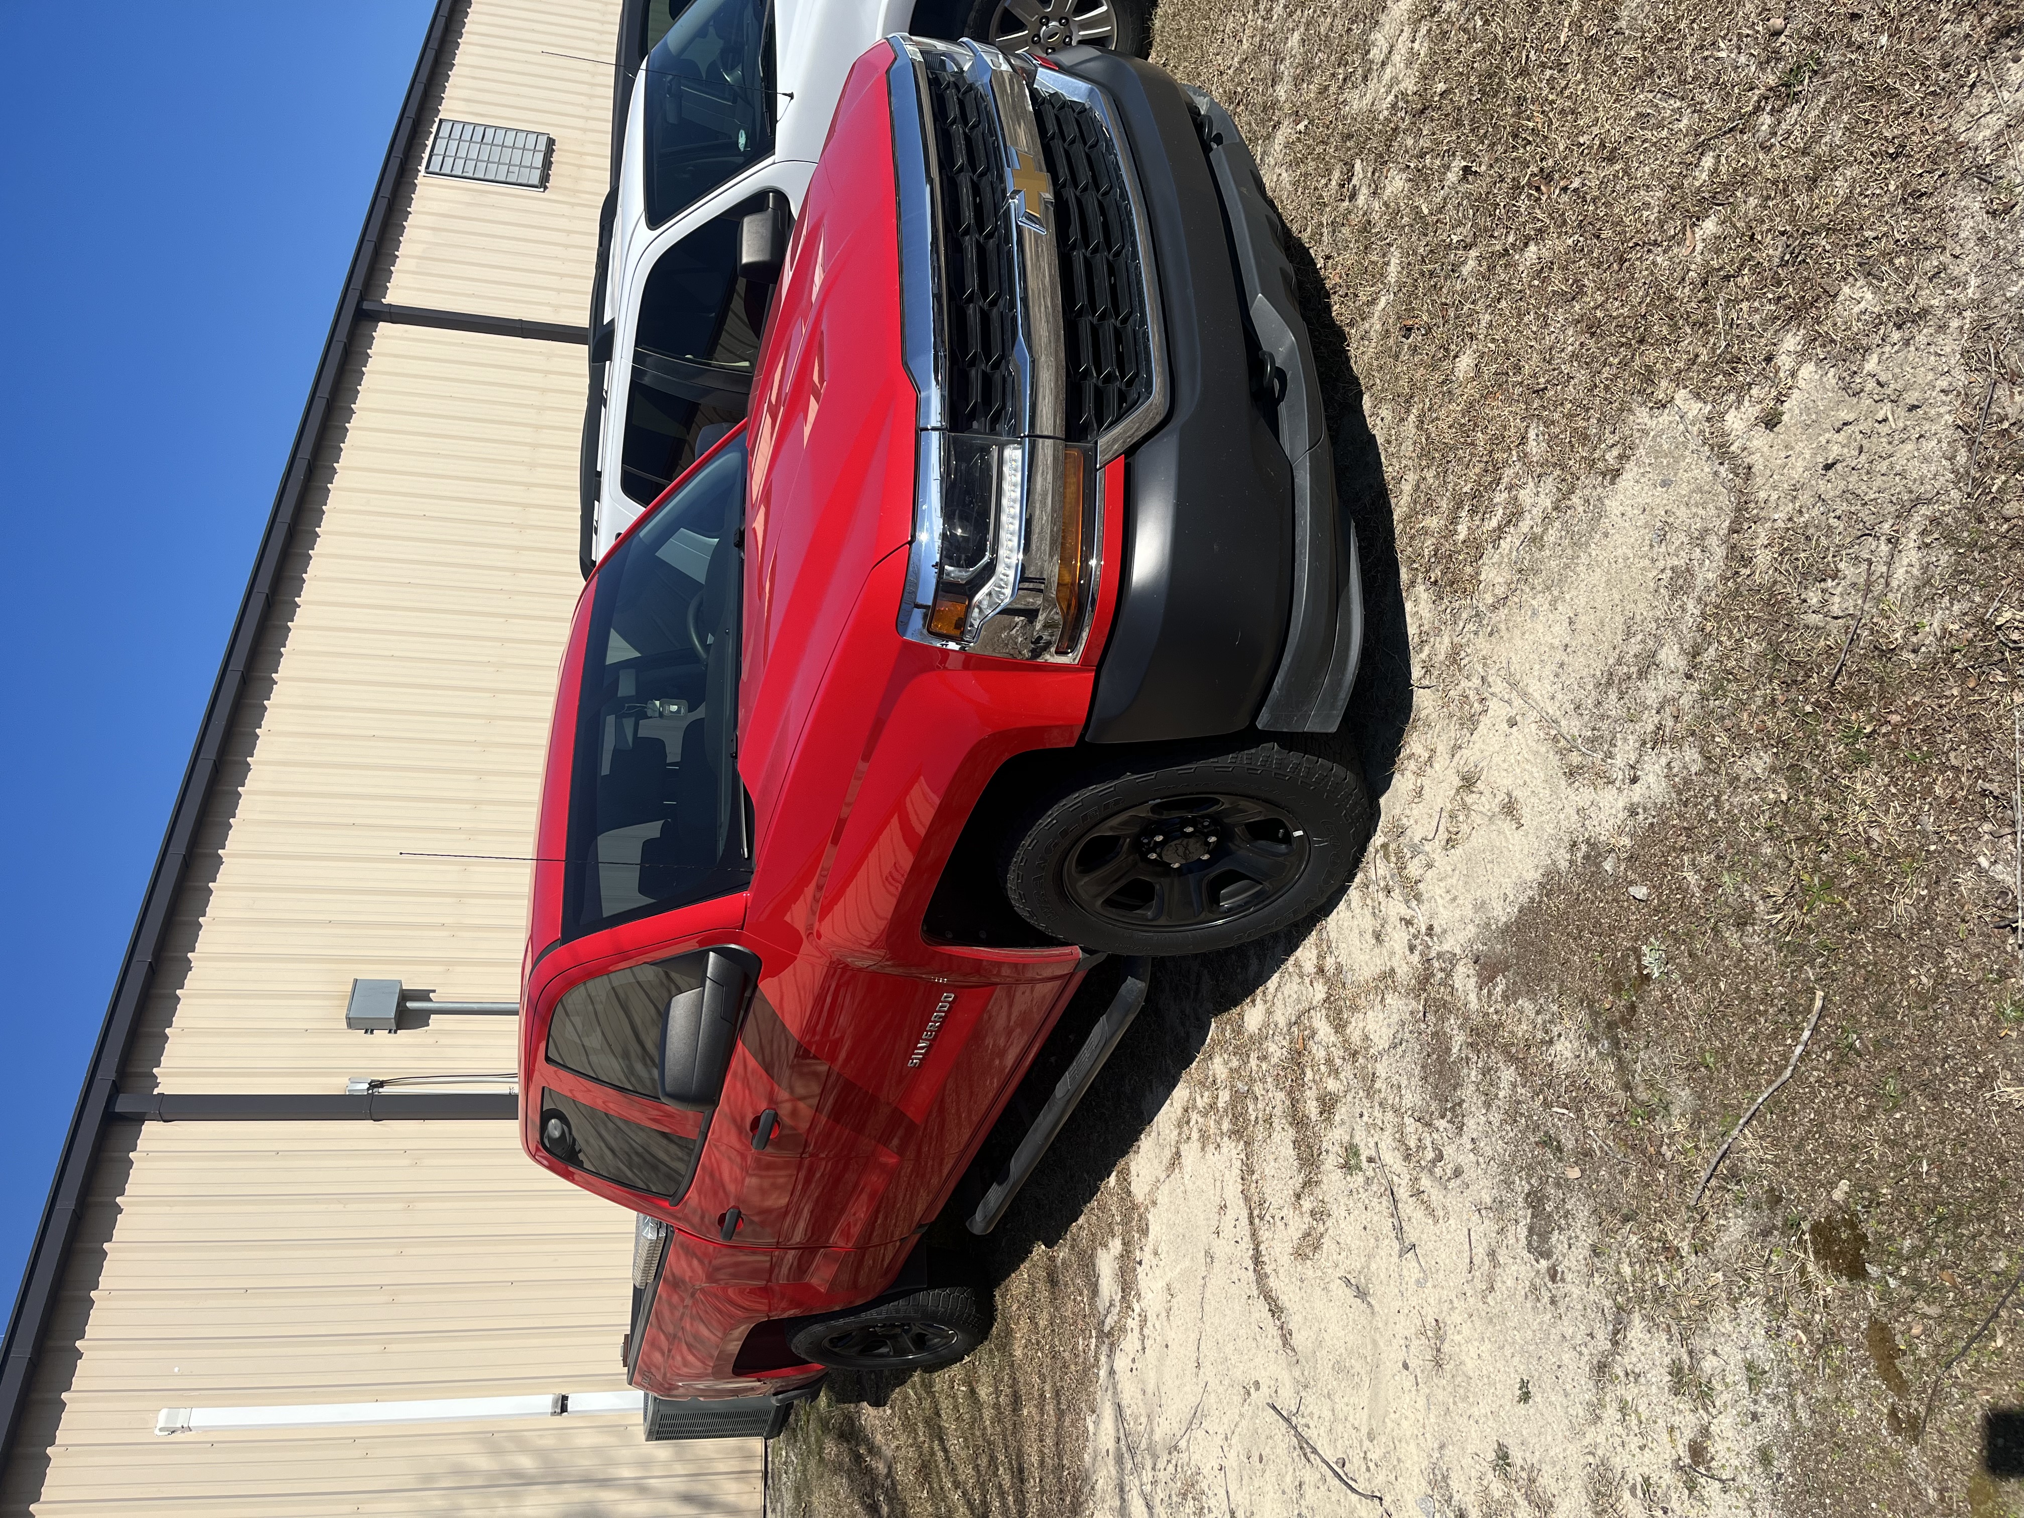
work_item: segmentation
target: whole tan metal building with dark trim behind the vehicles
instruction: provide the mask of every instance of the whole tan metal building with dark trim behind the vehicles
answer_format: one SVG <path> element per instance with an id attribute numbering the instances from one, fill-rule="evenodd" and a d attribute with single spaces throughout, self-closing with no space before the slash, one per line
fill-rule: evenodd
<path id="1" fill-rule="evenodd" d="M 431 20 L 8 1328 L 6 1514 L 761 1506 L 759 1441 L 636 1417 L 156 1435 L 166 1407 L 623 1388 L 631 1216 L 520 1154 L 510 1087 L 492 1121 L 259 1101 L 514 1069 L 510 1018 L 344 1012 L 354 978 L 514 996 L 617 24 Z"/>

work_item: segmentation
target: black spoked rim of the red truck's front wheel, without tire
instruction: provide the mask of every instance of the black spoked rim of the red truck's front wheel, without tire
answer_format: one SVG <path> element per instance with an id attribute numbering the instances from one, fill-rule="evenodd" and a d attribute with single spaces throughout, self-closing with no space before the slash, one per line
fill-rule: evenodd
<path id="1" fill-rule="evenodd" d="M 1196 929 L 1249 917 L 1299 884 L 1305 830 L 1249 795 L 1172 795 L 1089 828 L 1063 889 L 1091 917 L 1135 929 Z"/>

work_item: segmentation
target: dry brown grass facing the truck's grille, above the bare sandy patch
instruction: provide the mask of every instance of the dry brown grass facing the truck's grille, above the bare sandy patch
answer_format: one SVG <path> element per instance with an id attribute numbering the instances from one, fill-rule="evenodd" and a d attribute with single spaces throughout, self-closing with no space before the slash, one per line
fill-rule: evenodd
<path id="1" fill-rule="evenodd" d="M 2016 235 L 1957 132 L 2014 4 L 1793 6 L 1773 34 L 1781 10 L 1162 8 L 1160 61 L 1231 107 L 1326 281 L 1344 409 L 1360 378 L 1386 447 L 1445 466 L 1397 502 L 1409 573 L 1465 593 L 1514 466 L 1607 468 L 1631 407 L 1773 419 L 1787 344 L 1860 362 L 1961 304 L 1951 200 Z M 2004 336 L 1977 316 L 1971 346 Z"/>

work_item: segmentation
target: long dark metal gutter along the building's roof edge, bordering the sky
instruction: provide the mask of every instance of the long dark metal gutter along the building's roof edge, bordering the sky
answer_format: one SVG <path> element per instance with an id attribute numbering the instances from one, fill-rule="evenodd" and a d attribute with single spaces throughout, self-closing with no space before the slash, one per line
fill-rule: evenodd
<path id="1" fill-rule="evenodd" d="M 219 773 L 219 761 L 231 737 L 233 719 L 239 712 L 247 668 L 253 662 L 253 652 L 259 648 L 259 636 L 267 623 L 267 609 L 273 603 L 273 583 L 287 557 L 296 512 L 302 506 L 302 492 L 316 461 L 324 421 L 330 415 L 330 401 L 344 374 L 352 324 L 358 320 L 366 281 L 372 277 L 372 265 L 378 261 L 381 233 L 387 227 L 387 215 L 393 208 L 409 166 L 415 125 L 421 119 L 429 81 L 435 75 L 443 38 L 449 34 L 453 10 L 455 0 L 437 0 L 435 14 L 429 18 L 429 30 L 423 34 L 421 57 L 415 59 L 415 75 L 409 79 L 407 97 L 401 101 L 401 115 L 395 121 L 393 138 L 387 142 L 387 158 L 381 164 L 378 184 L 372 190 L 364 227 L 358 231 L 358 247 L 352 251 L 352 265 L 344 275 L 338 310 L 330 322 L 330 334 L 324 338 L 324 354 L 316 364 L 316 387 L 310 391 L 302 423 L 296 427 L 296 443 L 289 449 L 287 470 L 275 494 L 273 514 L 267 518 L 267 530 L 253 561 L 253 575 L 247 581 L 245 599 L 239 603 L 231 642 L 225 646 L 225 662 L 219 666 L 219 678 L 210 688 L 210 704 L 204 708 L 190 763 L 182 773 L 182 789 L 176 791 L 176 806 L 168 814 L 162 852 L 156 854 L 154 874 L 148 878 L 148 891 L 142 895 L 134 937 L 128 941 L 125 959 L 113 982 L 113 996 L 105 1008 L 105 1022 L 99 1028 L 91 1065 L 85 1071 L 77 1111 L 71 1115 L 71 1131 L 63 1140 L 57 1176 L 49 1188 L 49 1202 L 43 1206 L 43 1225 L 28 1251 L 20 1293 L 14 1297 L 14 1316 L 8 1320 L 6 1346 L 0 1348 L 0 1465 L 12 1453 L 14 1431 L 20 1427 L 22 1409 L 34 1386 L 43 1334 L 49 1328 L 57 1293 L 63 1287 L 63 1267 L 71 1253 L 71 1241 L 77 1237 L 77 1222 L 83 1216 L 91 1172 L 97 1168 L 99 1142 L 117 1093 L 119 1071 L 134 1042 L 140 1010 L 154 980 L 154 967 L 162 953 L 162 939 L 168 931 L 176 893 L 188 868 L 196 828 L 210 802 L 210 785 Z"/>

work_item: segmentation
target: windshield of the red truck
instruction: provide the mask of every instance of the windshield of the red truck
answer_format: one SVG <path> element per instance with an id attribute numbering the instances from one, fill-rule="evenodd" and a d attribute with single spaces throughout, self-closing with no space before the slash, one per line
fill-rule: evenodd
<path id="1" fill-rule="evenodd" d="M 745 439 L 597 571 L 569 791 L 563 933 L 751 878 L 737 775 Z"/>

